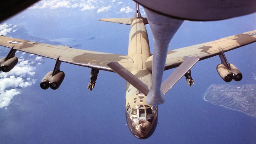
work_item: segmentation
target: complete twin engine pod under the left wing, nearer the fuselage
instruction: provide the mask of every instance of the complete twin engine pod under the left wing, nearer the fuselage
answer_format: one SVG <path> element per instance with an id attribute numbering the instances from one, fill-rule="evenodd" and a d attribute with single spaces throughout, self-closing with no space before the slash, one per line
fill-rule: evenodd
<path id="1" fill-rule="evenodd" d="M 51 87 L 51 89 L 56 90 L 60 87 L 65 74 L 63 71 L 58 71 L 54 76 L 52 76 L 52 71 L 47 73 L 44 78 L 41 80 L 40 87 L 44 90 Z"/>

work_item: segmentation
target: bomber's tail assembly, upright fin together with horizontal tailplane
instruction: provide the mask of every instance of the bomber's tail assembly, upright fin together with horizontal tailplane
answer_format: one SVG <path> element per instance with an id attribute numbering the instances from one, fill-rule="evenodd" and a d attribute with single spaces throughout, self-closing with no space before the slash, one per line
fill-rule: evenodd
<path id="1" fill-rule="evenodd" d="M 134 18 L 110 18 L 110 19 L 100 19 L 100 21 L 107 21 L 107 22 L 113 22 L 113 23 L 121 23 L 121 24 L 125 24 L 125 25 L 132 25 L 132 21 L 134 19 L 139 19 L 142 18 L 141 14 L 140 14 L 140 8 L 139 8 L 139 4 L 136 3 L 136 12 L 134 15 Z M 144 24 L 148 24 L 148 20 L 147 18 L 142 18 L 144 21 Z"/>

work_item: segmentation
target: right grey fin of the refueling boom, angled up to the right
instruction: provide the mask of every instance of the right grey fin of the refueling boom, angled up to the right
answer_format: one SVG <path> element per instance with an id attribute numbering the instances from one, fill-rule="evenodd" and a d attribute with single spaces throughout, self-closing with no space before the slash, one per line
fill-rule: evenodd
<path id="1" fill-rule="evenodd" d="M 162 83 L 161 91 L 164 95 L 184 76 L 190 68 L 192 68 L 199 60 L 197 57 L 188 57 L 178 68 Z"/>

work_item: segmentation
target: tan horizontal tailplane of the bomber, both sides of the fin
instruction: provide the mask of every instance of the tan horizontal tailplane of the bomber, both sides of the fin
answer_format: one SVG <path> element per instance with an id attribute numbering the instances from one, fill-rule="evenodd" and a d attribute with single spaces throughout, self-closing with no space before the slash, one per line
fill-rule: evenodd
<path id="1" fill-rule="evenodd" d="M 125 25 L 132 25 L 132 20 L 134 18 L 110 18 L 110 19 L 100 19 L 100 21 L 107 21 L 107 22 L 114 22 L 114 23 L 121 23 Z M 147 18 L 142 18 L 144 21 L 144 24 L 148 24 Z"/>

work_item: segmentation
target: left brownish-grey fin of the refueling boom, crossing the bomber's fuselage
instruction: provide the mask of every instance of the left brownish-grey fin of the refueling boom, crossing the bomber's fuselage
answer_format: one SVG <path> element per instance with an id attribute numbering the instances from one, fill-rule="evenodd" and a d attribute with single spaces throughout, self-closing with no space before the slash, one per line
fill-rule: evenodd
<path id="1" fill-rule="evenodd" d="M 107 64 L 108 67 L 113 69 L 118 75 L 123 77 L 127 82 L 132 84 L 135 88 L 137 88 L 140 92 L 147 95 L 148 94 L 148 86 L 140 81 L 136 76 L 134 76 L 131 72 L 121 66 L 118 62 L 110 62 Z"/>

